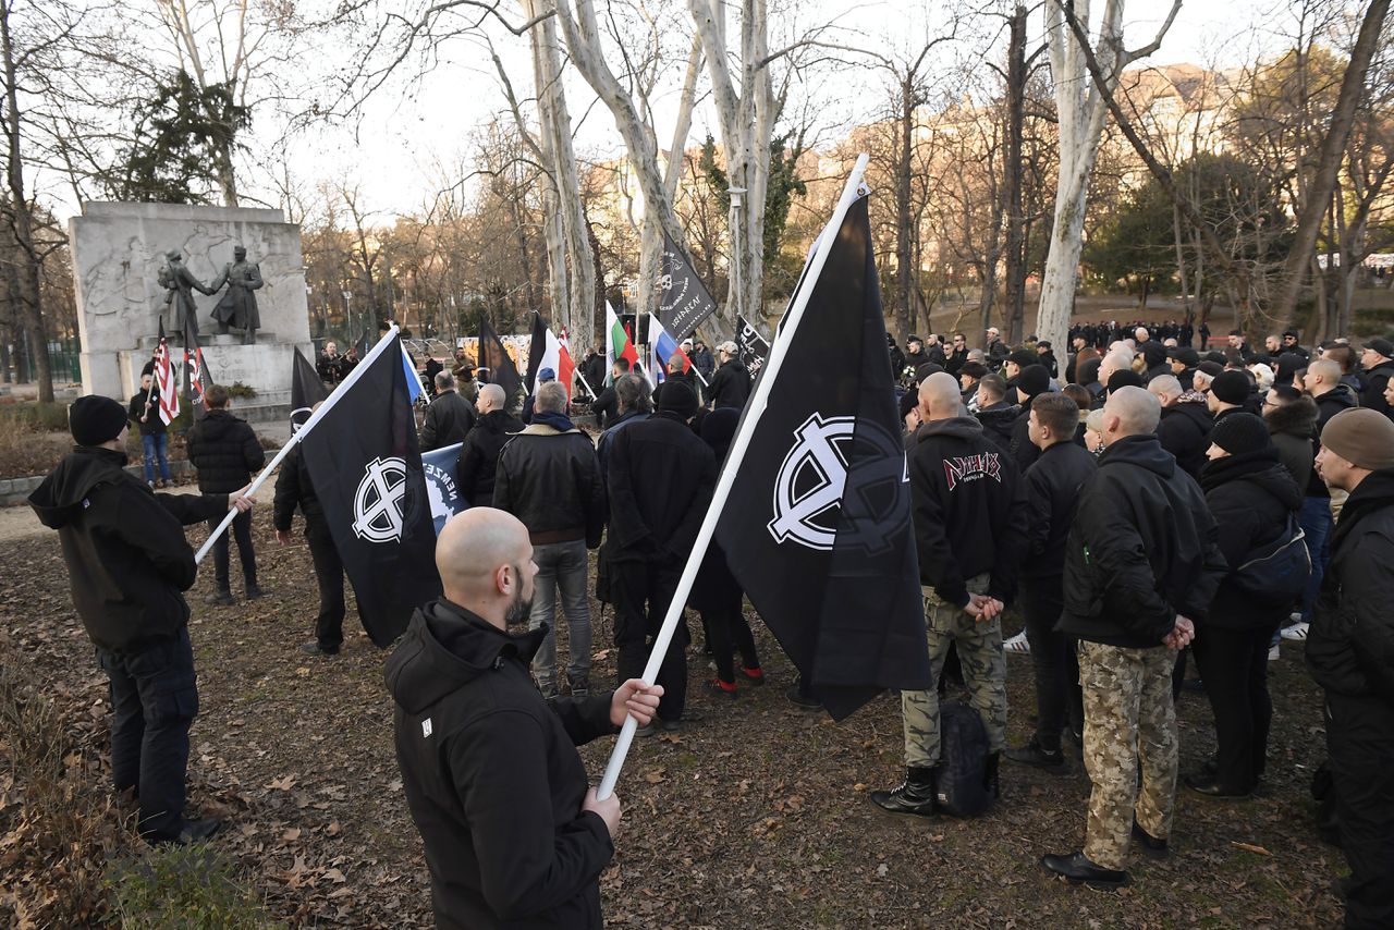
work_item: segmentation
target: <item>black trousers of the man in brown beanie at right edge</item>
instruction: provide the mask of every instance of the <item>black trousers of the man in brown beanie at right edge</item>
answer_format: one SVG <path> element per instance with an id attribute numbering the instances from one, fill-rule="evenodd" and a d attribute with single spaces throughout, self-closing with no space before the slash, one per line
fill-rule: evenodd
<path id="1" fill-rule="evenodd" d="M 1326 747 L 1351 863 L 1345 926 L 1394 927 L 1394 706 L 1328 692 Z"/>

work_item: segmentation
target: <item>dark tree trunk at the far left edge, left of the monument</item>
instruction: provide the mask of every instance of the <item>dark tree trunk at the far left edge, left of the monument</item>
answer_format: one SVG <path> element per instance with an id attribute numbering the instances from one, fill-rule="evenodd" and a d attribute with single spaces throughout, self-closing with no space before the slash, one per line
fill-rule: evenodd
<path id="1" fill-rule="evenodd" d="M 4 53 L 6 142 L 10 187 L 10 222 L 17 259 L 15 283 L 18 286 L 20 315 L 28 330 L 35 379 L 39 382 L 39 402 L 53 403 L 53 371 L 49 365 L 49 335 L 43 323 L 42 290 L 39 287 L 39 254 L 33 247 L 33 215 L 24 192 L 24 160 L 20 151 L 20 102 L 18 68 L 15 67 L 14 40 L 10 33 L 10 4 L 0 3 L 0 45 Z"/>

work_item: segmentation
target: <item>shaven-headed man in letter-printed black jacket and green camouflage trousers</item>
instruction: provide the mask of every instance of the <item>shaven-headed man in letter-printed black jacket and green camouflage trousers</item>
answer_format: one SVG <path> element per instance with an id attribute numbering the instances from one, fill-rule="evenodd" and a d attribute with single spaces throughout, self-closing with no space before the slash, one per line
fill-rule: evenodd
<path id="1" fill-rule="evenodd" d="M 902 692 L 906 778 L 871 793 L 896 814 L 934 814 L 940 775 L 938 678 L 949 644 L 958 646 L 973 708 L 987 729 L 987 788 L 997 793 L 998 761 L 1006 747 L 1004 607 L 1016 593 L 1026 541 L 1026 498 L 1009 456 L 959 416 L 953 375 L 937 372 L 920 385 L 923 425 L 910 441 L 910 506 L 924 588 L 934 680 L 926 692 Z"/>

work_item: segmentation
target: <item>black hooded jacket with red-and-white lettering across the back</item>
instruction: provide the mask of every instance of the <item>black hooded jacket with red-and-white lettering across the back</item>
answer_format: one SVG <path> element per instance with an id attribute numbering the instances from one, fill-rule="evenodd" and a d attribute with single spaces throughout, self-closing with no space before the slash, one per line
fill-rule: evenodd
<path id="1" fill-rule="evenodd" d="M 931 420 L 906 443 L 920 584 L 966 607 L 967 580 L 1009 604 L 1026 548 L 1026 485 L 1012 457 L 972 417 Z"/>

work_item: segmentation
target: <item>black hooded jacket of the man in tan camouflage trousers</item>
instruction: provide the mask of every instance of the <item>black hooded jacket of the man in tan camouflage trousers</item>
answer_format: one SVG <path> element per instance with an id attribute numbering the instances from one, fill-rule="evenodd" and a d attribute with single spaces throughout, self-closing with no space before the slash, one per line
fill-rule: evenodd
<path id="1" fill-rule="evenodd" d="M 1200 487 L 1157 436 L 1118 439 L 1079 495 L 1057 629 L 1150 648 L 1163 644 L 1178 613 L 1202 623 L 1228 570 L 1217 540 Z"/>

